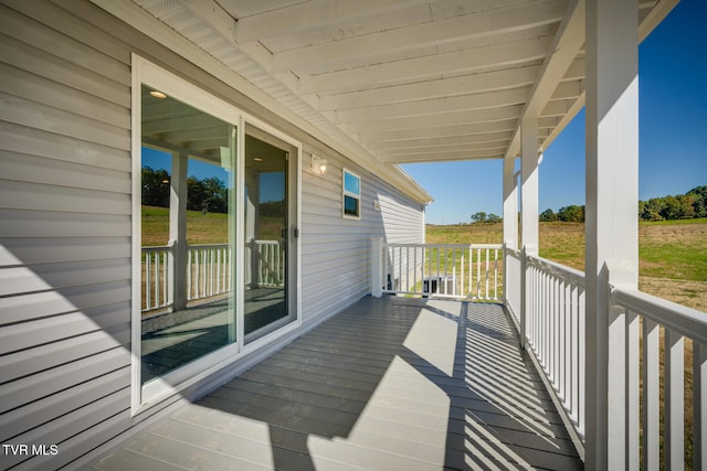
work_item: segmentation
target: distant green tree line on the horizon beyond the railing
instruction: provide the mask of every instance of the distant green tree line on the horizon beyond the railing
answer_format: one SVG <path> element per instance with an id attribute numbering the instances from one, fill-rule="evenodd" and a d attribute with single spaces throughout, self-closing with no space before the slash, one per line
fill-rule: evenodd
<path id="1" fill-rule="evenodd" d="M 707 185 L 697 186 L 685 194 L 652 197 L 639 201 L 641 221 L 674 221 L 707 217 Z M 556 213 L 551 208 L 540 213 L 540 222 L 562 221 L 567 223 L 584 222 L 584 205 L 571 204 L 560 207 Z M 478 212 L 472 215 L 475 223 L 498 223 L 502 218 L 495 214 Z"/>

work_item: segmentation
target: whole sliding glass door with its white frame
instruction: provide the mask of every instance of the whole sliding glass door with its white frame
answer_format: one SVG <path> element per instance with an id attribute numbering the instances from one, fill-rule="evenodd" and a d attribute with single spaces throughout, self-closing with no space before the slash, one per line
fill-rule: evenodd
<path id="1" fill-rule="evenodd" d="M 136 411 L 297 320 L 299 146 L 134 61 Z"/>

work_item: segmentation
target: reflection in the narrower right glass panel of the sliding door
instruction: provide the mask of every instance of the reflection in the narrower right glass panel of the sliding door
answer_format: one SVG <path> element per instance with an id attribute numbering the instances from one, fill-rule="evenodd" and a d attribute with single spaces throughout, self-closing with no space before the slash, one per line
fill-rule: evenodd
<path id="1" fill-rule="evenodd" d="M 247 127 L 244 203 L 244 333 L 246 341 L 289 322 L 289 257 L 294 229 L 287 144 Z"/>

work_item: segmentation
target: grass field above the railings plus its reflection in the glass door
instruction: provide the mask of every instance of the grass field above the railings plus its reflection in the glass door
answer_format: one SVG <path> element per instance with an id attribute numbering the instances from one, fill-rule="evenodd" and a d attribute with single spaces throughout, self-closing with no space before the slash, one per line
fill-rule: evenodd
<path id="1" fill-rule="evenodd" d="M 261 218 L 261 238 L 276 239 L 276 220 Z M 143 246 L 166 245 L 169 210 L 143 207 Z M 500 244 L 503 224 L 426 227 L 431 244 Z M 189 244 L 228 240 L 228 215 L 187 212 Z M 584 269 L 584 224 L 540 223 L 540 256 Z M 640 288 L 651 295 L 707 312 L 707 218 L 661 221 L 639 225 Z"/>

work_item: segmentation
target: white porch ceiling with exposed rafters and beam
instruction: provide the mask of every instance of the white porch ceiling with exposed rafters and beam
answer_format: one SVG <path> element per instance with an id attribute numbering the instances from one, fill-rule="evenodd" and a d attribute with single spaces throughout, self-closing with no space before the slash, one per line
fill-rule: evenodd
<path id="1" fill-rule="evenodd" d="M 516 157 L 525 116 L 547 148 L 584 105 L 583 0 L 134 1 L 383 164 Z"/>

